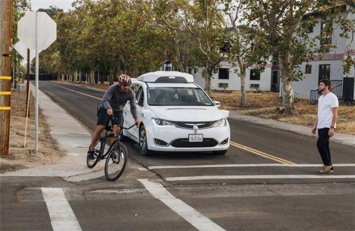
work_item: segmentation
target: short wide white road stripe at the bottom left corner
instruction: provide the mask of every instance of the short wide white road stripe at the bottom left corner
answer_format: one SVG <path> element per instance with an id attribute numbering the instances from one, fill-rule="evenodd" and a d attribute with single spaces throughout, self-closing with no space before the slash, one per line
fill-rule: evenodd
<path id="1" fill-rule="evenodd" d="M 42 188 L 54 231 L 82 230 L 72 208 L 67 202 L 62 188 Z"/>

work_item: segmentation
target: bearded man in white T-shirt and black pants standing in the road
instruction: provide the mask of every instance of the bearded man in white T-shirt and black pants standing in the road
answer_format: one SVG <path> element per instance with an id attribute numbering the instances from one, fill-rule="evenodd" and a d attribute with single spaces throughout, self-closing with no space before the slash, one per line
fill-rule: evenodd
<path id="1" fill-rule="evenodd" d="M 318 99 L 318 112 L 314 120 L 312 133 L 318 128 L 317 147 L 323 161 L 323 168 L 319 173 L 332 173 L 332 159 L 329 149 L 329 138 L 334 135 L 338 117 L 338 97 L 329 91 L 330 81 L 328 79 L 319 81 L 319 92 L 322 96 Z"/>

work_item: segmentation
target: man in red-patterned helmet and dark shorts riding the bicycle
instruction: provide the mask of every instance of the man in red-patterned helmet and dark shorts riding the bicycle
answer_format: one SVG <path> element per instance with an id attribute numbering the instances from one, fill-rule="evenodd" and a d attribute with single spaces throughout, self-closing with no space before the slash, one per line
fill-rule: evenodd
<path id="1" fill-rule="evenodd" d="M 93 160 L 94 157 L 94 147 L 100 134 L 109 124 L 111 115 L 114 114 L 114 119 L 112 120 L 113 130 L 115 133 L 119 133 L 123 126 L 123 107 L 129 100 L 131 107 L 131 113 L 134 118 L 135 125 L 140 124 L 140 120 L 137 116 L 137 108 L 135 105 L 135 93 L 130 88 L 132 85 L 131 78 L 127 74 L 121 74 L 118 78 L 118 84 L 112 85 L 103 95 L 102 103 L 97 111 L 97 123 L 96 130 L 92 135 L 91 145 L 88 150 L 89 159 Z M 115 141 L 117 138 L 113 137 L 111 142 Z"/>

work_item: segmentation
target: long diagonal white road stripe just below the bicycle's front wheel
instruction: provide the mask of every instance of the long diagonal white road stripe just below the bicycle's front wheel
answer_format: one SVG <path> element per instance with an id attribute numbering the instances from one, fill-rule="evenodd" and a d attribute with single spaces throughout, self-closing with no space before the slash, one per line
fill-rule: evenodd
<path id="1" fill-rule="evenodd" d="M 160 183 L 149 179 L 138 179 L 156 199 L 163 202 L 198 230 L 225 230 L 180 199 L 172 196 Z"/>

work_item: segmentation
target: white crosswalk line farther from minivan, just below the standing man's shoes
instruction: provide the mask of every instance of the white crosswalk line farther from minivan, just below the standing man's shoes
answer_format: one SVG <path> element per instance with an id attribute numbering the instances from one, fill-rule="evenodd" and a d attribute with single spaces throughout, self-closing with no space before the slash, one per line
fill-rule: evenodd
<path id="1" fill-rule="evenodd" d="M 355 179 L 355 175 L 222 175 L 166 177 L 166 181 L 228 179 Z"/>

